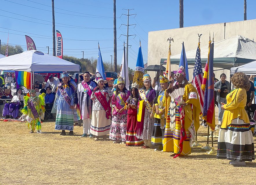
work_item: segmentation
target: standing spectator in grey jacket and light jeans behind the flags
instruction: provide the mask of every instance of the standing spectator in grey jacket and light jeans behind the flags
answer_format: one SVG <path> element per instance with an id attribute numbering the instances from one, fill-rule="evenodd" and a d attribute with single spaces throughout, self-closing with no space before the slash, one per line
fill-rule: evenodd
<path id="1" fill-rule="evenodd" d="M 216 125 L 215 129 L 219 129 L 222 123 L 222 116 L 224 112 L 221 106 L 222 106 L 222 103 L 224 104 L 227 103 L 226 96 L 230 92 L 230 84 L 228 81 L 226 81 L 226 75 L 224 73 L 220 75 L 220 81 L 214 84 L 214 91 L 217 92 L 216 101 L 218 102 L 218 107 L 219 107 L 218 124 Z"/>

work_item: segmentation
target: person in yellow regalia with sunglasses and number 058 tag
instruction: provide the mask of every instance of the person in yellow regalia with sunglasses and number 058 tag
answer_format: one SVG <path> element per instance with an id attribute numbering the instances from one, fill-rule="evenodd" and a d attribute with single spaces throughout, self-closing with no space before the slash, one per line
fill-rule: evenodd
<path id="1" fill-rule="evenodd" d="M 173 125 L 173 130 L 172 133 L 169 134 L 169 138 L 173 138 L 171 141 L 169 140 L 169 142 L 173 142 L 173 144 L 169 144 L 168 148 L 164 147 L 164 151 L 174 152 L 174 154 L 171 155 L 174 156 L 174 158 L 191 154 L 191 144 L 195 132 L 200 125 L 199 114 L 201 112 L 197 90 L 191 83 L 188 83 L 183 66 L 180 66 L 175 77 L 177 81 L 173 84 L 172 88 L 167 89 L 167 92 L 174 99 L 176 105 L 175 122 L 170 123 Z M 177 96 L 173 94 L 177 88 L 184 88 L 180 102 L 177 100 Z"/>

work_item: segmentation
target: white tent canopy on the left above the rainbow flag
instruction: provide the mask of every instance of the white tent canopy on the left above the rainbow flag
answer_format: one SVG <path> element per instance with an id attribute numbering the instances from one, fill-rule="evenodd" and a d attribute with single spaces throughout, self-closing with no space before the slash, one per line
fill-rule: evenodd
<path id="1" fill-rule="evenodd" d="M 80 66 L 41 51 L 24 51 L 0 59 L 0 70 L 29 72 L 79 71 Z"/>

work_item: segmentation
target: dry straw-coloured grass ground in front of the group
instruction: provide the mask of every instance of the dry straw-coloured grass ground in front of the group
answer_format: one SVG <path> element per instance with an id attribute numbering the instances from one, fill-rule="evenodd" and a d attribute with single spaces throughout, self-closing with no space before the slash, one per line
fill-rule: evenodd
<path id="1" fill-rule="evenodd" d="M 171 153 L 108 141 L 60 136 L 54 122 L 42 134 L 25 123 L 0 121 L 0 184 L 254 184 L 256 163 L 234 167 L 198 148 L 173 159 Z M 199 132 L 207 129 L 200 127 Z M 198 136 L 206 145 L 206 138 Z M 217 147 L 217 138 L 214 138 Z"/>

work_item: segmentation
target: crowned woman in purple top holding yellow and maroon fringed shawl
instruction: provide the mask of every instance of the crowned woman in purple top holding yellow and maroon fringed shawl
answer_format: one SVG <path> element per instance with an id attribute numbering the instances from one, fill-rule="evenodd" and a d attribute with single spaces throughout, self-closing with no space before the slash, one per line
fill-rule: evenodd
<path id="1" fill-rule="evenodd" d="M 151 77 L 149 74 L 143 76 L 144 89 L 140 92 L 140 103 L 143 100 L 143 106 L 139 105 L 138 117 L 141 117 L 141 121 L 136 126 L 136 137 L 143 139 L 145 145 L 142 148 L 151 148 L 151 136 L 154 127 L 154 118 L 150 116 L 154 112 L 153 101 L 156 97 L 156 91 L 152 88 Z M 142 114 L 140 115 L 140 109 L 142 108 Z M 152 114 L 153 115 L 153 114 Z M 140 120 L 140 118 L 138 118 Z"/>

